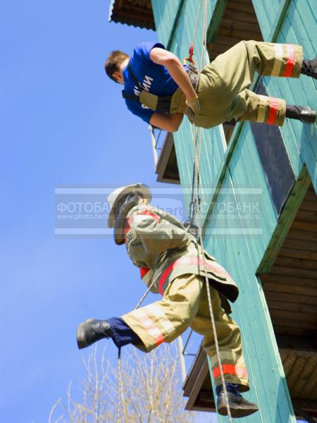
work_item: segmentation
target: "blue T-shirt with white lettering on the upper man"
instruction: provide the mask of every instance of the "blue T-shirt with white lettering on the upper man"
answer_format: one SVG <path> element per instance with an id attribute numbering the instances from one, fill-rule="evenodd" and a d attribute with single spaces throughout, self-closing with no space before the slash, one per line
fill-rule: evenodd
<path id="1" fill-rule="evenodd" d="M 165 49 L 163 44 L 159 42 L 142 42 L 135 47 L 130 58 L 132 72 L 144 90 L 158 96 L 172 95 L 178 89 L 178 85 L 164 66 L 157 65 L 150 59 L 149 54 L 154 47 Z M 125 81 L 125 92 L 138 95 L 139 89 L 135 87 L 135 83 L 129 75 L 128 66 L 123 69 L 123 79 Z M 154 114 L 154 111 L 139 102 L 125 99 L 125 104 L 127 104 L 128 109 L 133 114 L 139 116 L 147 123 L 149 123 L 152 114 Z"/>

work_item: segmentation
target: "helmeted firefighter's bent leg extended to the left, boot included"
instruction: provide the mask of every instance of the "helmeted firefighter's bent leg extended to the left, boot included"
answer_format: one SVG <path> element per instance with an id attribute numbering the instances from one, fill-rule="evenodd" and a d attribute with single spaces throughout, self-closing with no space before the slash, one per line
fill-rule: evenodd
<path id="1" fill-rule="evenodd" d="M 117 347 L 132 343 L 149 352 L 163 342 L 169 343 L 187 329 L 197 314 L 203 286 L 201 278 L 183 275 L 170 283 L 160 301 L 122 317 L 88 319 L 78 326 L 78 347 L 112 338 Z"/>

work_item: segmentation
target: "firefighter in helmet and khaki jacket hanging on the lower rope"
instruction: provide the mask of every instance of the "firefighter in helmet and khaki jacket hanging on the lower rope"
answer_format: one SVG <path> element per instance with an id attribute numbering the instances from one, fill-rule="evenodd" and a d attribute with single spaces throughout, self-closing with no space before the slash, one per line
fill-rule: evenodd
<path id="1" fill-rule="evenodd" d="M 174 341 L 190 327 L 204 336 L 202 346 L 211 358 L 217 409 L 227 415 L 206 293 L 206 269 L 232 417 L 256 412 L 258 407 L 241 395 L 249 391 L 249 379 L 240 329 L 229 315 L 228 300 L 234 302 L 239 294 L 235 281 L 216 259 L 201 251 L 197 239 L 178 219 L 151 207 L 151 192 L 146 185 L 118 188 L 108 202 L 108 226 L 113 228 L 116 244 L 125 244 L 144 283 L 162 298 L 121 317 L 88 319 L 78 326 L 78 348 L 112 338 L 118 348 L 132 343 L 149 352 L 163 342 Z"/>

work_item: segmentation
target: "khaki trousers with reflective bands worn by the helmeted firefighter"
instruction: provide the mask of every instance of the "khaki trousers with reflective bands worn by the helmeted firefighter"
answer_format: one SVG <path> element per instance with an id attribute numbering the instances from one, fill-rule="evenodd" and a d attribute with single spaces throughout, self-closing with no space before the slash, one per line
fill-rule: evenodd
<path id="1" fill-rule="evenodd" d="M 211 302 L 216 322 L 220 359 L 225 381 L 240 384 L 240 391 L 249 390 L 247 369 L 242 354 L 240 329 L 220 305 L 218 291 L 211 287 Z M 206 283 L 203 276 L 182 275 L 168 285 L 163 298 L 121 317 L 137 333 L 142 344 L 139 350 L 149 352 L 163 342 L 170 343 L 191 327 L 204 336 L 203 348 L 211 357 L 213 378 L 221 384 L 211 326 Z"/>

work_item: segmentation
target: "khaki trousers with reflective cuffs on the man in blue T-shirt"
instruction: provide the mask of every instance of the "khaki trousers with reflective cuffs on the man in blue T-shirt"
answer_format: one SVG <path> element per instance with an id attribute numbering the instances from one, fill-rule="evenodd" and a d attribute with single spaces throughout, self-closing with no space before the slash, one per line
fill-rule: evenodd
<path id="1" fill-rule="evenodd" d="M 194 116 L 197 126 L 211 128 L 235 118 L 282 125 L 286 103 L 248 90 L 259 75 L 298 78 L 303 49 L 294 44 L 242 41 L 207 65 L 199 78 L 197 95 L 201 111 Z"/>

